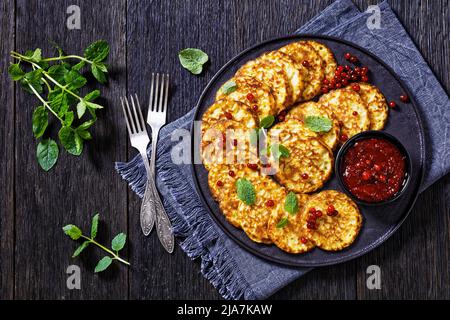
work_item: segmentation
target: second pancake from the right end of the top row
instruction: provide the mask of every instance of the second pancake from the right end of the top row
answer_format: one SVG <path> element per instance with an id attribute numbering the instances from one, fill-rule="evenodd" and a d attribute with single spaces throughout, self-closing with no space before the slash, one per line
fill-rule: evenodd
<path id="1" fill-rule="evenodd" d="M 311 100 L 320 93 L 322 81 L 325 76 L 324 63 L 319 54 L 305 41 L 292 42 L 280 49 L 280 52 L 288 54 L 294 61 L 308 72 L 306 85 L 302 92 L 302 100 Z M 307 61 L 309 67 L 302 63 Z"/>

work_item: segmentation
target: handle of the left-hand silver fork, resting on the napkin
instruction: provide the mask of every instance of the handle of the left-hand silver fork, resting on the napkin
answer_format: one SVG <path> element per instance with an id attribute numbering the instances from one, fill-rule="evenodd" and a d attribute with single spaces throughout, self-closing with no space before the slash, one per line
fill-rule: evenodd
<path id="1" fill-rule="evenodd" d="M 141 203 L 141 212 L 139 214 L 142 233 L 148 236 L 153 229 L 156 217 L 156 203 L 155 196 L 153 192 L 152 181 L 154 182 L 154 177 L 150 170 L 150 165 L 148 163 L 148 158 L 146 152 L 141 153 L 142 159 L 144 161 L 145 170 L 147 171 L 147 182 L 145 184 L 144 198 Z"/>

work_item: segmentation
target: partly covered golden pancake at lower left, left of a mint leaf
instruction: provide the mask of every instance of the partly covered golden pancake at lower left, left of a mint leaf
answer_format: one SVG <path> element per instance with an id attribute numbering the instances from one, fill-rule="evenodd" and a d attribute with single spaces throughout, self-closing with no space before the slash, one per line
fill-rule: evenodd
<path id="1" fill-rule="evenodd" d="M 230 176 L 230 170 L 235 176 Z M 241 227 L 241 215 L 238 209 L 241 200 L 237 197 L 236 181 L 239 178 L 259 176 L 259 172 L 247 168 L 244 164 L 213 164 L 208 172 L 208 185 L 214 200 L 219 202 L 219 207 L 225 218 L 235 227 Z M 217 182 L 223 183 L 218 186 Z"/>

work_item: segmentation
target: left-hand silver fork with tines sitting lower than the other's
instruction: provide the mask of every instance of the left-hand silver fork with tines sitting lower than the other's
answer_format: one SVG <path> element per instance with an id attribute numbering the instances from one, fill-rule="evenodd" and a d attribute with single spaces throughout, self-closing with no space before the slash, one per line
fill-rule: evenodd
<path id="1" fill-rule="evenodd" d="M 150 139 L 148 137 L 144 117 L 142 116 L 139 99 L 137 95 L 135 95 L 135 97 L 137 108 L 134 104 L 133 96 L 130 96 L 132 108 L 130 108 L 126 97 L 120 97 L 120 102 L 122 103 L 122 110 L 127 123 L 131 145 L 141 154 L 142 160 L 144 161 L 145 170 L 147 171 L 147 184 L 141 204 L 140 223 L 142 232 L 145 236 L 148 236 L 152 231 L 153 225 L 155 224 L 156 217 L 156 204 L 154 201 L 153 189 L 150 187 L 151 184 L 149 183 L 149 181 L 154 181 L 154 179 L 152 177 L 152 171 L 150 170 L 150 164 L 148 163 L 147 157 L 147 146 Z M 133 112 L 131 109 L 133 109 Z"/>

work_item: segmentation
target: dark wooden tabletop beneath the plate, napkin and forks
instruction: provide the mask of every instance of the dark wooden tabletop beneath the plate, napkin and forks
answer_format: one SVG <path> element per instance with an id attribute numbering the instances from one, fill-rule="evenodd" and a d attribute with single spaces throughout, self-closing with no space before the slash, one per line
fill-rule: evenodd
<path id="1" fill-rule="evenodd" d="M 168 71 L 173 90 L 170 120 L 190 110 L 214 73 L 241 50 L 289 34 L 318 14 L 322 1 L 2 1 L 0 11 L 0 299 L 216 299 L 219 294 L 177 248 L 163 252 L 155 234 L 139 228 L 140 200 L 114 172 L 114 161 L 130 159 L 118 97 L 139 93 L 144 101 L 152 71 Z M 376 1 L 356 1 L 360 8 Z M 389 1 L 446 91 L 449 75 L 449 2 Z M 66 28 L 66 9 L 81 8 L 81 30 Z M 35 160 L 31 112 L 35 97 L 7 76 L 11 50 L 41 47 L 49 40 L 67 52 L 91 41 L 111 44 L 107 107 L 93 130 L 95 140 L 79 158 L 62 152 L 44 173 Z M 182 69 L 177 53 L 206 51 L 211 64 L 201 76 Z M 449 299 L 450 177 L 420 195 L 405 224 L 385 244 L 345 264 L 317 268 L 275 294 L 276 299 Z M 92 270 L 100 252 L 72 259 L 75 244 L 61 227 L 87 229 L 100 212 L 100 240 L 129 235 L 124 255 L 132 266 L 104 274 Z M 66 268 L 81 268 L 81 290 L 66 288 Z M 381 267 L 381 290 L 366 288 L 366 268 Z"/>

